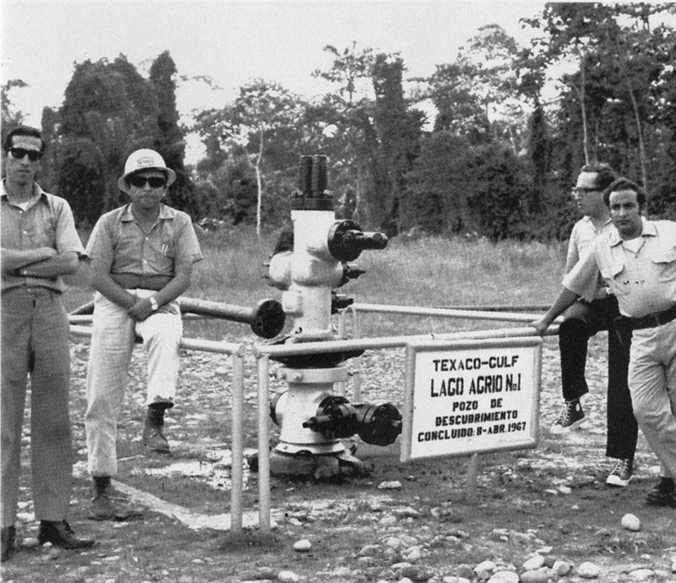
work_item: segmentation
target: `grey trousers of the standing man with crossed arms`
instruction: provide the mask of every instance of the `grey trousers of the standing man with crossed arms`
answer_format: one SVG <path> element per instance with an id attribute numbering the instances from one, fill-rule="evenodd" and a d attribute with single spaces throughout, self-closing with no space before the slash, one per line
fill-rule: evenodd
<path id="1" fill-rule="evenodd" d="M 70 332 L 61 294 L 11 288 L 2 294 L 2 524 L 16 520 L 21 434 L 30 376 L 30 462 L 37 520 L 68 517 L 73 457 L 68 415 Z"/>

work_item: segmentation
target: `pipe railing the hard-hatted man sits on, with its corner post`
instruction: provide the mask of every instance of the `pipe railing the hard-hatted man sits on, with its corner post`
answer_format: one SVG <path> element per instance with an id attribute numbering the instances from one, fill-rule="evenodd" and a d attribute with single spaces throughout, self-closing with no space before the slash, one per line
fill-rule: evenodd
<path id="1" fill-rule="evenodd" d="M 76 336 L 91 336 L 89 326 L 71 324 Z M 230 490 L 230 529 L 242 532 L 242 494 L 244 491 L 244 345 L 234 342 L 181 338 L 180 348 L 201 350 L 232 357 L 232 489 Z M 269 487 L 269 483 L 268 483 Z M 268 515 L 269 508 L 266 510 Z M 269 519 L 268 519 L 269 520 Z"/>

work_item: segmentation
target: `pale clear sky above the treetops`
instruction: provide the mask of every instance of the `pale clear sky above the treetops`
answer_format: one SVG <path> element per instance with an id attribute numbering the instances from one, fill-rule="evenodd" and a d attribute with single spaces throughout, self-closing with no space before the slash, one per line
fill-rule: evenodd
<path id="1" fill-rule="evenodd" d="M 179 75 L 206 75 L 218 87 L 180 82 L 186 122 L 256 78 L 307 98 L 327 92 L 312 75 L 332 63 L 327 44 L 399 52 L 406 75 L 425 77 L 454 61 L 482 25 L 497 23 L 527 44 L 519 19 L 542 8 L 532 0 L 0 0 L 0 75 L 29 85 L 9 97 L 39 127 L 42 108 L 63 103 L 75 63 L 124 54 L 146 74 L 168 50 Z"/>

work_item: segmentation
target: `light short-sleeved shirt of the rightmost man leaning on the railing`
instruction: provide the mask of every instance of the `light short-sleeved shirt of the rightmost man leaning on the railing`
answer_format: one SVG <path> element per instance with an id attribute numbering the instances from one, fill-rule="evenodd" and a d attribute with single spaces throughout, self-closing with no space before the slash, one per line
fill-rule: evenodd
<path id="1" fill-rule="evenodd" d="M 563 278 L 563 287 L 589 299 L 605 281 L 620 313 L 638 318 L 676 303 L 676 222 L 646 221 L 638 240 L 617 231 L 594 240 L 591 252 Z"/>

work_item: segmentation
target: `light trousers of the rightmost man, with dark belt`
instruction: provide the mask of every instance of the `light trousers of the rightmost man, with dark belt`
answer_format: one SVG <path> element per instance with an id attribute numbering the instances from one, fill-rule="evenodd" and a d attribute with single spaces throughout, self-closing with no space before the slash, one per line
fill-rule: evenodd
<path id="1" fill-rule="evenodd" d="M 662 475 L 676 479 L 676 320 L 633 331 L 629 389 Z"/>

